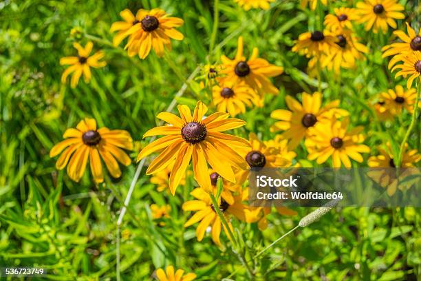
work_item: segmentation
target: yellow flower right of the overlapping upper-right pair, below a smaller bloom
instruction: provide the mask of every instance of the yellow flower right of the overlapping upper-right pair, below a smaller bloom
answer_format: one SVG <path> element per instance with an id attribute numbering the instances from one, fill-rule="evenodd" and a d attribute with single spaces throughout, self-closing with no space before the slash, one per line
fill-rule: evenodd
<path id="1" fill-rule="evenodd" d="M 364 59 L 362 53 L 367 53 L 368 49 L 365 45 L 358 43 L 356 37 L 349 30 L 343 30 L 341 34 L 336 36 L 338 41 L 336 44 L 340 47 L 332 49 L 330 53 L 323 54 L 320 57 L 321 67 L 327 67 L 328 70 L 334 70 L 339 74 L 340 67 L 354 68 L 357 59 Z M 314 59 L 317 59 L 314 57 Z M 310 68 L 316 65 L 316 61 L 312 59 L 308 65 Z"/>

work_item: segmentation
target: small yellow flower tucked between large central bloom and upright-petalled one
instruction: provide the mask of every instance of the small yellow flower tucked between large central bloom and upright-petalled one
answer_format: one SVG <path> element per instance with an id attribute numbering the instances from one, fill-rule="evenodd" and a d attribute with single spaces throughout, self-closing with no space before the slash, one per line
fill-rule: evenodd
<path id="1" fill-rule="evenodd" d="M 219 112 L 228 112 L 230 116 L 246 112 L 246 105 L 261 105 L 261 100 L 250 86 L 223 81 L 212 88 L 213 104 Z"/>

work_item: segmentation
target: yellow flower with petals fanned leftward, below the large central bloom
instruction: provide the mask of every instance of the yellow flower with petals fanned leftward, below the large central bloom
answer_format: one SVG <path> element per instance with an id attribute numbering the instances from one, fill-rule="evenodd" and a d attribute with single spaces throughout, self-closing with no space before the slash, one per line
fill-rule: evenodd
<path id="1" fill-rule="evenodd" d="M 224 227 L 225 233 L 227 233 L 228 229 L 225 229 L 224 224 L 221 222 L 221 218 L 219 218 L 217 215 L 217 212 L 212 205 L 210 194 L 208 194 L 202 188 L 195 188 L 193 191 L 191 191 L 190 194 L 195 198 L 195 200 L 184 202 L 182 209 L 184 211 L 195 211 L 195 214 L 184 224 L 184 227 L 190 227 L 191 225 L 199 222 L 199 225 L 197 225 L 196 228 L 196 237 L 197 241 L 202 241 L 206 229 L 210 226 L 212 229 L 211 237 L 213 242 L 215 242 L 217 245 L 220 245 L 221 240 L 219 240 L 219 236 L 221 235 L 221 225 Z M 218 205 L 219 210 L 228 222 L 228 227 L 230 227 L 232 231 L 232 225 L 230 224 L 227 216 L 227 210 L 230 205 L 222 198 L 218 199 Z"/>

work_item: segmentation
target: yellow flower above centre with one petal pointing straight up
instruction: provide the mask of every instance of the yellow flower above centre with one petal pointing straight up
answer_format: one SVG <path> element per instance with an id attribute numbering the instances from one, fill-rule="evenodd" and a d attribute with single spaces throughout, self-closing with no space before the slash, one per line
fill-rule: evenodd
<path id="1" fill-rule="evenodd" d="M 243 55 L 243 37 L 238 39 L 237 54 L 233 60 L 221 56 L 222 74 L 225 74 L 224 81 L 233 84 L 246 83 L 261 96 L 263 94 L 277 94 L 279 90 L 272 85 L 268 77 L 278 76 L 283 72 L 283 67 L 271 65 L 266 59 L 260 59 L 259 50 L 253 49 L 248 60 Z"/>

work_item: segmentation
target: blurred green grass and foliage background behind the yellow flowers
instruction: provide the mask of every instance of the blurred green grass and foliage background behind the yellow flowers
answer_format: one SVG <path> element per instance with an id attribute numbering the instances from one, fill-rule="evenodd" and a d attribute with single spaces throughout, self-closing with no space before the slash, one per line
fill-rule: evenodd
<path id="1" fill-rule="evenodd" d="M 336 1 L 324 10 L 351 6 L 350 2 Z M 408 17 L 414 17 L 413 3 L 400 2 Z M 247 125 L 236 131 L 238 135 L 255 132 L 263 140 L 272 138 L 270 112 L 285 108 L 285 95 L 316 90 L 318 82 L 305 74 L 307 60 L 290 48 L 299 34 L 320 25 L 323 10 L 303 11 L 296 1 L 276 1 L 267 12 L 244 12 L 233 1 L 222 0 L 217 48 L 208 56 L 212 5 L 213 1 L 199 0 L 0 1 L 0 266 L 43 267 L 50 280 L 116 279 L 116 220 L 136 164 L 122 168 L 121 178 L 106 178 L 98 187 L 88 171 L 80 183 L 69 180 L 65 171 L 56 171 L 56 159 L 48 153 L 65 129 L 75 127 L 81 118 L 96 118 L 100 127 L 126 129 L 139 149 L 148 141 L 142 141 L 142 134 L 158 123 L 155 115 L 171 103 L 186 77 L 207 60 L 217 63 L 221 54 L 233 57 L 239 34 L 244 36 L 246 55 L 258 47 L 263 58 L 283 65 L 285 74 L 273 80 L 279 96 L 268 96 L 265 107 L 239 116 Z M 123 44 L 112 47 L 109 28 L 120 20 L 121 10 L 156 7 L 185 21 L 180 28 L 184 41 L 173 41 L 173 51 L 165 59 L 151 53 L 141 61 L 129 58 Z M 72 28 L 80 33 L 71 36 Z M 375 154 L 376 145 L 386 140 L 396 147 L 410 115 L 406 112 L 393 123 L 373 121 L 371 98 L 404 81 L 395 81 L 387 60 L 381 59 L 380 48 L 391 32 L 378 36 L 361 27 L 357 32 L 370 49 L 367 60 L 340 77 L 323 72 L 323 98 L 341 98 L 352 125 L 365 126 L 366 144 Z M 105 51 L 107 66 L 93 70 L 91 83 L 81 79 L 72 90 L 60 82 L 64 67 L 59 59 L 75 54 L 74 41 L 88 40 L 94 41 L 94 51 Z M 178 102 L 193 109 L 197 100 L 209 103 L 210 96 L 193 81 Z M 210 106 L 210 112 L 214 110 Z M 420 147 L 419 122 L 409 144 Z M 302 164 L 312 165 L 305 160 L 304 147 L 296 152 Z M 137 151 L 131 153 L 133 159 L 136 155 Z M 166 264 L 195 272 L 199 280 L 220 280 L 234 271 L 233 280 L 248 280 L 227 244 L 221 250 L 208 236 L 197 242 L 195 229 L 184 229 L 188 214 L 181 205 L 191 199 L 187 192 L 193 182 L 188 180 L 181 189 L 175 197 L 158 193 L 142 172 L 121 227 L 122 280 L 148 280 Z M 172 207 L 164 227 L 151 218 L 153 202 Z M 256 225 L 233 222 L 246 260 L 310 210 L 297 211 L 292 218 L 270 215 L 270 227 L 263 232 Z M 224 233 L 222 237 L 227 241 Z M 415 280 L 421 272 L 420 246 L 419 209 L 345 208 L 295 231 L 250 265 L 261 280 Z"/>

